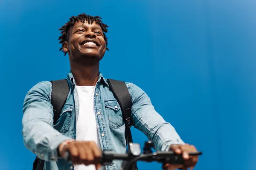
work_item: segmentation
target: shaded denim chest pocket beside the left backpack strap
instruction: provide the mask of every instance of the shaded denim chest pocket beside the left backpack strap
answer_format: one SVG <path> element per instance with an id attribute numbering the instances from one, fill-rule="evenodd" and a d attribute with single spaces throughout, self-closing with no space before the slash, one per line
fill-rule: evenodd
<path id="1" fill-rule="evenodd" d="M 58 120 L 55 122 L 54 128 L 60 133 L 67 132 L 70 128 L 72 119 L 73 106 L 64 105 Z"/>

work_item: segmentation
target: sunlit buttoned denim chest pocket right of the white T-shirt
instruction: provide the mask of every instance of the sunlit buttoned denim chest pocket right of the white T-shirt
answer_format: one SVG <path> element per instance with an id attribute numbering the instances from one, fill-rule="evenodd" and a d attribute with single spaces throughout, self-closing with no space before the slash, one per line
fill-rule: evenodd
<path id="1" fill-rule="evenodd" d="M 110 127 L 118 129 L 119 127 L 124 125 L 122 110 L 117 100 L 105 101 L 105 111 L 108 116 L 108 122 Z"/>

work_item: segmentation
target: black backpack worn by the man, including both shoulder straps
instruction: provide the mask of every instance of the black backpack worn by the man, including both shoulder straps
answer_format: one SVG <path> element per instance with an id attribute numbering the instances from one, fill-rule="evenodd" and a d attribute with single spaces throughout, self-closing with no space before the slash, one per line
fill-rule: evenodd
<path id="1" fill-rule="evenodd" d="M 54 113 L 54 123 L 58 120 L 61 110 L 67 100 L 67 96 L 69 94 L 70 88 L 67 83 L 67 79 L 60 79 L 55 81 L 50 81 L 52 83 L 52 97 L 51 103 L 53 106 Z M 131 96 L 129 91 L 125 85 L 125 82 L 108 79 L 108 84 L 110 90 L 113 92 L 113 95 L 116 97 L 118 101 L 121 111 L 122 117 L 125 122 L 125 140 L 126 144 L 129 144 L 132 141 L 131 130 L 132 126 L 131 122 Z M 128 145 L 129 146 L 129 145 Z M 135 164 L 137 168 L 137 164 Z M 33 163 L 33 170 L 44 170 L 44 160 L 39 159 L 37 156 Z"/>

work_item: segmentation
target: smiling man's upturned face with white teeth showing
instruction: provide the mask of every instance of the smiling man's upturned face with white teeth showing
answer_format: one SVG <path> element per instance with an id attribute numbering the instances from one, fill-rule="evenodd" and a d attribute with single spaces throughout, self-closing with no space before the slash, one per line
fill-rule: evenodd
<path id="1" fill-rule="evenodd" d="M 65 42 L 63 47 L 72 60 L 86 57 L 99 61 L 106 51 L 102 28 L 95 22 L 76 22 L 70 30 L 68 42 Z"/>

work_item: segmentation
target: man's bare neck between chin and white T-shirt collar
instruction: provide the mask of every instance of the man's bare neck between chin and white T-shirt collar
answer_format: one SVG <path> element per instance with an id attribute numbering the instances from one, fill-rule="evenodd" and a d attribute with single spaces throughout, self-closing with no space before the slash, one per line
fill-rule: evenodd
<path id="1" fill-rule="evenodd" d="M 76 85 L 93 86 L 96 85 L 99 77 L 99 63 L 96 65 L 81 65 L 70 63 L 71 72 L 76 80 Z"/>

